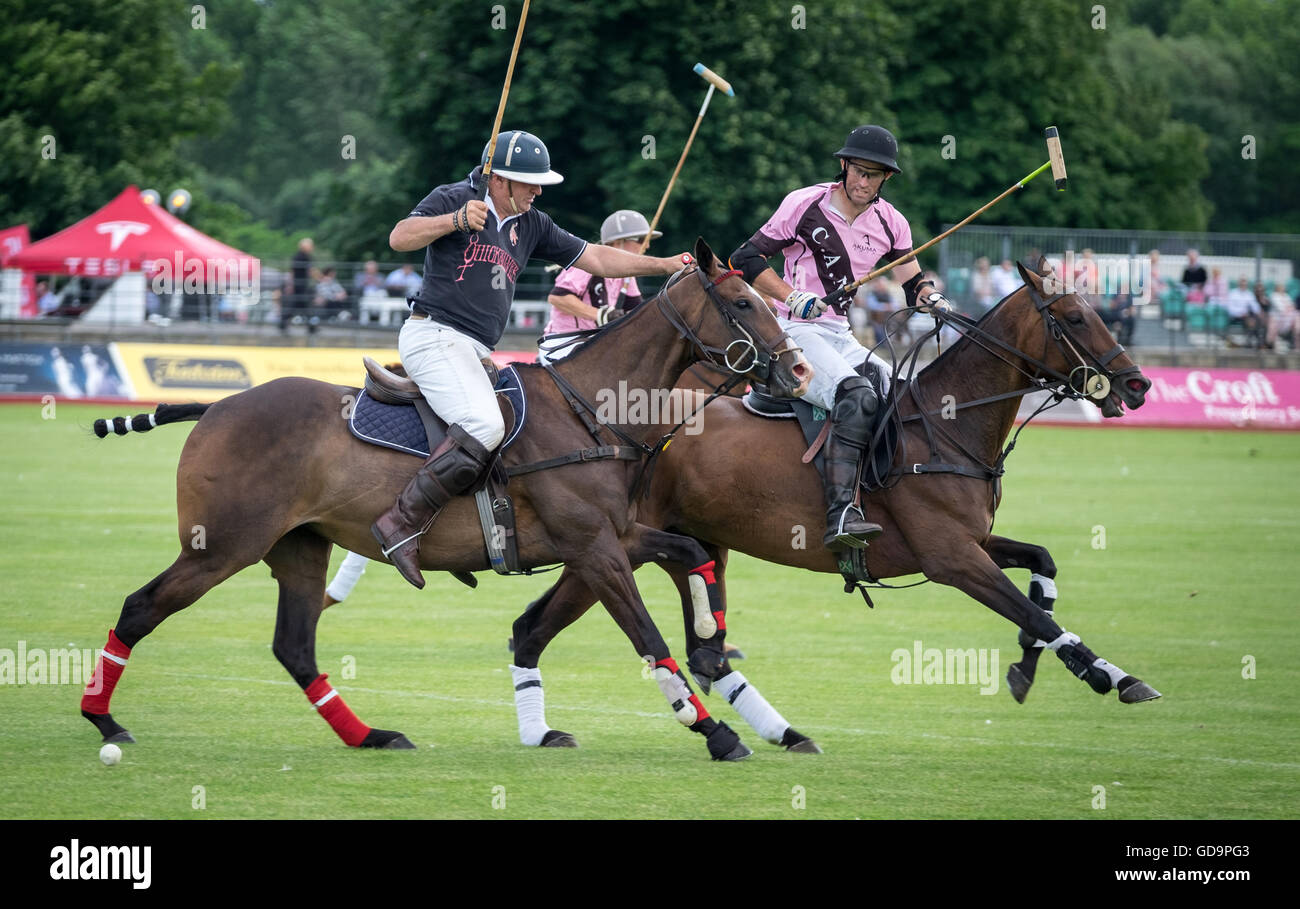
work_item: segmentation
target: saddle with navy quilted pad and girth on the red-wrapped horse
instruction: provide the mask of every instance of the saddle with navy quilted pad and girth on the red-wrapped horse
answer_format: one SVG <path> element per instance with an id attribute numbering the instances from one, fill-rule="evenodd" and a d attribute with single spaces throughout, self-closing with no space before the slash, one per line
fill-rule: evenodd
<path id="1" fill-rule="evenodd" d="M 447 437 L 447 424 L 433 412 L 413 380 L 385 369 L 369 356 L 364 362 L 365 386 L 356 398 L 347 428 L 363 442 L 428 458 Z M 498 371 L 491 360 L 481 363 L 497 391 L 506 437 L 471 492 L 478 507 L 489 562 L 494 571 L 508 575 L 519 572 L 519 546 L 515 538 L 515 503 L 506 492 L 510 477 L 500 455 L 523 430 L 528 403 L 514 367 Z M 471 583 L 473 575 L 454 573 L 474 585 Z"/>

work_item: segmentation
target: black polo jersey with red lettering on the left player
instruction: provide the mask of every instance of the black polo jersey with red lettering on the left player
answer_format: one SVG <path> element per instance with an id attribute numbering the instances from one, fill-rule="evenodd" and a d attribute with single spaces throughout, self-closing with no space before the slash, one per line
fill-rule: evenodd
<path id="1" fill-rule="evenodd" d="M 478 198 L 482 168 L 474 168 L 459 183 L 439 186 L 411 211 L 412 217 L 450 215 Z M 488 202 L 491 209 L 491 200 Z M 410 298 L 413 312 L 464 332 L 494 347 L 506 332 L 510 304 L 519 272 L 532 256 L 568 268 L 586 248 L 586 241 L 556 226 L 536 207 L 506 218 L 500 225 L 493 211 L 482 230 L 454 230 L 424 252 L 424 283 Z"/>

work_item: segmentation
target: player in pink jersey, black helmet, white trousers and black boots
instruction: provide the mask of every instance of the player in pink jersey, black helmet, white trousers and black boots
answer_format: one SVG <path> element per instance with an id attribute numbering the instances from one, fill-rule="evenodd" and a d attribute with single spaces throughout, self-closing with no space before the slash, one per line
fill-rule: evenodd
<path id="1" fill-rule="evenodd" d="M 732 268 L 741 269 L 755 290 L 771 298 L 781 328 L 816 371 L 803 399 L 831 415 L 823 540 L 831 549 L 862 549 L 881 532 L 853 506 L 858 459 L 871 441 L 880 402 L 859 373 L 867 349 L 853 337 L 848 320 L 822 298 L 878 263 L 911 252 L 907 220 L 880 196 L 885 181 L 902 173 L 897 156 L 898 142 L 889 130 L 859 126 L 835 153 L 838 178 L 790 192 L 767 224 L 731 255 Z M 784 259 L 784 276 L 767 264 L 767 257 L 777 254 Z M 907 293 L 907 306 L 952 308 L 928 280 L 922 280 L 915 260 L 896 268 L 894 276 Z M 887 393 L 888 365 L 876 356 L 871 362 L 880 375 L 880 390 Z"/>

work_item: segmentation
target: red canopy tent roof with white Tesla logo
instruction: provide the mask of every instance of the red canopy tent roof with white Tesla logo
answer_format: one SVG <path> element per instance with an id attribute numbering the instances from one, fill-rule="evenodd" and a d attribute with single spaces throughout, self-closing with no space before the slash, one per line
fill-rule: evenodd
<path id="1" fill-rule="evenodd" d="M 57 234 L 32 243 L 5 263 L 40 274 L 113 277 L 126 272 L 173 269 L 177 280 L 192 261 L 233 263 L 256 269 L 257 260 L 217 242 L 150 204 L 127 186 L 121 195 Z"/>

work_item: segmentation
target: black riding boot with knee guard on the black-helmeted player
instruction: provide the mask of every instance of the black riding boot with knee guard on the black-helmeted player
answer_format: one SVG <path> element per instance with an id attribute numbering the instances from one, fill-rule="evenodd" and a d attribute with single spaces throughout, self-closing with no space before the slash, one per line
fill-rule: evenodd
<path id="1" fill-rule="evenodd" d="M 883 528 L 866 519 L 853 506 L 858 485 L 858 459 L 871 443 L 875 423 L 876 394 L 862 376 L 852 376 L 836 389 L 831 411 L 831 432 L 822 456 L 826 460 L 826 537 L 828 549 L 864 549 L 867 541 Z"/>

